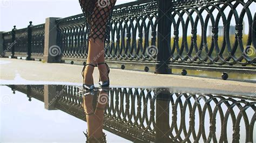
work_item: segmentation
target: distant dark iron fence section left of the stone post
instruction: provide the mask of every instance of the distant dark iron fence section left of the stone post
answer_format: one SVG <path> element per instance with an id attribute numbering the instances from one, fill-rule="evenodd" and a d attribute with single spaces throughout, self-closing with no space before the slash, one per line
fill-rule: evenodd
<path id="1" fill-rule="evenodd" d="M 30 25 L 28 28 L 17 30 L 16 26 L 11 32 L 3 33 L 4 38 L 4 54 L 6 56 L 21 56 L 28 59 L 42 57 L 44 55 L 44 26 Z"/>

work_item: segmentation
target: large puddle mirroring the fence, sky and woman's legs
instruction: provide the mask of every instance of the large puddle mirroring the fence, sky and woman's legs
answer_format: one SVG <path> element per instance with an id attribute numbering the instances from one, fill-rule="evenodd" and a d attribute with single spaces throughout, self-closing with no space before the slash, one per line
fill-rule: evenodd
<path id="1" fill-rule="evenodd" d="M 88 92 L 68 84 L 9 84 L 0 91 L 0 142 L 256 141 L 256 90 L 111 86 Z"/>

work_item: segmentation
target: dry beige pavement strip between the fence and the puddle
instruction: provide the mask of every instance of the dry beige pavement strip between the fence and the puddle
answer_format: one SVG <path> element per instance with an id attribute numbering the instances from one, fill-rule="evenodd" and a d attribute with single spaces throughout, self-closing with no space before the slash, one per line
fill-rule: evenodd
<path id="1" fill-rule="evenodd" d="M 83 66 L 64 63 L 43 63 L 18 59 L 0 59 L 0 84 L 68 84 L 81 85 Z M 199 72 L 199 71 L 198 71 Z M 241 74 L 239 74 L 240 76 Z M 245 74 L 247 75 L 247 74 Z M 93 72 L 98 85 L 98 69 Z M 110 70 L 110 85 L 124 87 L 167 87 L 180 91 L 210 92 L 211 94 L 250 95 L 255 91 L 256 75 L 251 82 L 220 80 L 181 75 L 153 74 L 142 71 Z M 219 77 L 221 74 L 219 75 Z M 244 78 L 244 77 L 243 77 Z"/>

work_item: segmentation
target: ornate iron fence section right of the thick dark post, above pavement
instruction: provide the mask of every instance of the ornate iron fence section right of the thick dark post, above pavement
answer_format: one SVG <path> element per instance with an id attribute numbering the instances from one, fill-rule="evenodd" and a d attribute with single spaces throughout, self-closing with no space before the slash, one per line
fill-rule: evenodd
<path id="1" fill-rule="evenodd" d="M 171 62 L 255 66 L 256 15 L 249 8 L 255 2 L 176 1 L 176 4 L 178 6 L 170 11 L 174 35 Z M 191 33 L 189 40 L 188 31 Z"/>

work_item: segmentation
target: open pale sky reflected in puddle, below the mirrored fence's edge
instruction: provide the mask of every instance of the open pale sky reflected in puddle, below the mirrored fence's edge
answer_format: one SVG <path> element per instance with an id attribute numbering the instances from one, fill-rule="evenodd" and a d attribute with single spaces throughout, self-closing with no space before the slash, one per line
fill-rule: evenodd
<path id="1" fill-rule="evenodd" d="M 59 110 L 48 111 L 44 103 L 9 87 L 0 86 L 0 142 L 85 142 L 87 124 Z M 107 142 L 129 142 L 110 132 Z"/>

